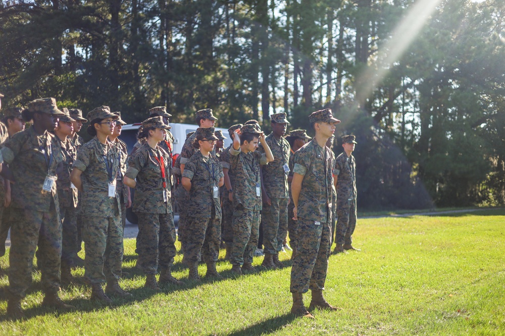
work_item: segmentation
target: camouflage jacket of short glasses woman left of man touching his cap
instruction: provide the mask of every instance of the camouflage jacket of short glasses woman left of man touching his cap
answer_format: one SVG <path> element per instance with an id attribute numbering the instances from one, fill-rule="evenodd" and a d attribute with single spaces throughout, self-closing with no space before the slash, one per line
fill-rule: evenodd
<path id="1" fill-rule="evenodd" d="M 212 155 L 205 158 L 197 152 L 186 163 L 182 177 L 191 180 L 191 190 L 186 212 L 193 218 L 211 218 L 212 208 L 215 218 L 221 218 L 221 200 L 219 198 L 219 180 L 223 177 L 223 168 L 218 159 Z M 218 187 L 217 198 L 214 187 Z"/>

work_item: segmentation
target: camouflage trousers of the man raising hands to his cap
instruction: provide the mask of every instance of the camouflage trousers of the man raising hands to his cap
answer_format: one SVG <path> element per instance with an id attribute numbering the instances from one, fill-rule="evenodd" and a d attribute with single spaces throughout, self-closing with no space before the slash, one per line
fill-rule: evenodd
<path id="1" fill-rule="evenodd" d="M 233 212 L 233 244 L 230 262 L 233 265 L 252 263 L 252 253 L 258 245 L 261 213 L 244 209 L 239 204 Z"/>

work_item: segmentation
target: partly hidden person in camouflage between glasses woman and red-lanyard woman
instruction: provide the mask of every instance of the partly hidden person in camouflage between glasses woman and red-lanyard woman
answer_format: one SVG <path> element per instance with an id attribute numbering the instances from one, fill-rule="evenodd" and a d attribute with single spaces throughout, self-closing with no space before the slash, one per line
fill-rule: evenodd
<path id="1" fill-rule="evenodd" d="M 118 137 L 121 135 L 121 129 L 123 128 L 123 125 L 126 125 L 126 122 L 121 119 L 121 112 L 112 113 L 119 117 L 116 120 L 116 126 L 114 126 L 114 132 L 112 133 L 112 136 L 109 137 L 109 141 L 116 146 L 116 150 L 118 151 L 119 168 L 116 176 L 116 189 L 120 198 L 121 223 L 123 224 L 124 230 L 126 225 L 126 209 L 131 206 L 130 188 L 128 188 L 126 184 L 123 184 L 123 177 L 126 173 L 126 169 L 128 169 L 128 146 Z"/>

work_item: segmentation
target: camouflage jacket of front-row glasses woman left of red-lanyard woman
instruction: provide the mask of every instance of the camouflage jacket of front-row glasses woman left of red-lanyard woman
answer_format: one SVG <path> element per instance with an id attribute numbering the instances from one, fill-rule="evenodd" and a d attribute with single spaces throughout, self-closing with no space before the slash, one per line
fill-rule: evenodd
<path id="1" fill-rule="evenodd" d="M 107 165 L 109 165 L 109 171 Z M 116 146 L 110 141 L 104 145 L 98 141 L 98 138 L 93 137 L 77 151 L 77 158 L 72 166 L 82 171 L 83 192 L 80 193 L 80 213 L 86 216 L 108 218 L 121 215 L 117 190 L 116 197 L 109 197 L 109 183 L 111 181 L 116 183 L 119 167 Z"/>

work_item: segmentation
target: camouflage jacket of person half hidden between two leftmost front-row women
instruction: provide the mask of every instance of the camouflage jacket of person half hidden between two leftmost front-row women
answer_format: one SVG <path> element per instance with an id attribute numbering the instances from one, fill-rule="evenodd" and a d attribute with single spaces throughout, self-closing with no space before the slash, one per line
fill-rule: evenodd
<path id="1" fill-rule="evenodd" d="M 57 139 L 60 140 L 58 137 Z M 58 180 L 56 181 L 60 207 L 76 208 L 77 189 L 70 187 L 70 172 L 77 156 L 77 148 L 69 139 L 66 139 L 65 142 L 60 140 L 60 146 L 62 149 L 63 169 L 58 171 Z"/>

